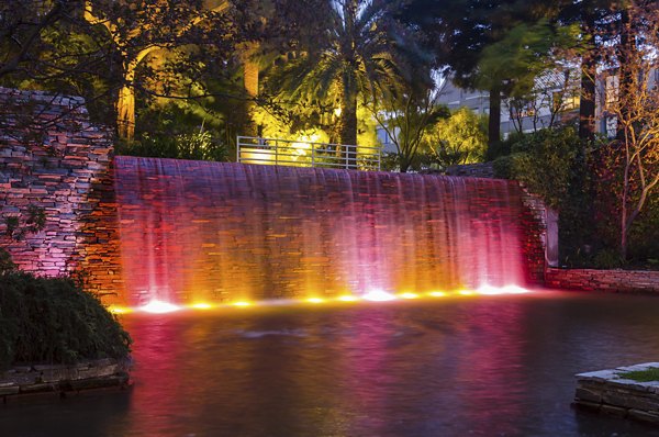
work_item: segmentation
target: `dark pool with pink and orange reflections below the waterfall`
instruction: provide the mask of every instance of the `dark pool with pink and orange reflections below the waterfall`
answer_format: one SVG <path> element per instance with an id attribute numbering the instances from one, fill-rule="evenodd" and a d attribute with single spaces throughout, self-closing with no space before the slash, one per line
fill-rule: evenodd
<path id="1" fill-rule="evenodd" d="M 659 299 L 517 296 L 123 318 L 131 391 L 0 405 L 1 436 L 650 436 L 573 374 L 659 361 Z"/>

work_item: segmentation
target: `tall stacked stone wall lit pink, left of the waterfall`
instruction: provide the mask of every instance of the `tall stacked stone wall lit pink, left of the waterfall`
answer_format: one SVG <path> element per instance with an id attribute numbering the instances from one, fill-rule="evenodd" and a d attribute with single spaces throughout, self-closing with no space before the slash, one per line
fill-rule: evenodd
<path id="1" fill-rule="evenodd" d="M 0 88 L 0 247 L 40 276 L 119 278 L 110 133 L 89 122 L 81 98 Z M 9 238 L 7 220 L 24 225 L 30 206 L 45 227 Z"/>

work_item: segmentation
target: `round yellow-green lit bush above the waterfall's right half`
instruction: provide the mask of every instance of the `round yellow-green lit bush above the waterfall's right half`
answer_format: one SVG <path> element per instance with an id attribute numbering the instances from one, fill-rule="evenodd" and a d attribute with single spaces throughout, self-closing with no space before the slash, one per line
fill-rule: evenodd
<path id="1" fill-rule="evenodd" d="M 425 136 L 434 161 L 442 168 L 482 163 L 488 149 L 488 121 L 468 108 L 439 120 Z"/>

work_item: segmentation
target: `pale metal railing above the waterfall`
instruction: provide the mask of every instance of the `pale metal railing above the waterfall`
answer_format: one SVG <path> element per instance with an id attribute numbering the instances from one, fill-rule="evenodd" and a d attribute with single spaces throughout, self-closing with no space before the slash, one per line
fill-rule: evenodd
<path id="1" fill-rule="evenodd" d="M 237 161 L 275 166 L 380 170 L 380 147 L 346 146 L 257 136 L 237 137 Z"/>

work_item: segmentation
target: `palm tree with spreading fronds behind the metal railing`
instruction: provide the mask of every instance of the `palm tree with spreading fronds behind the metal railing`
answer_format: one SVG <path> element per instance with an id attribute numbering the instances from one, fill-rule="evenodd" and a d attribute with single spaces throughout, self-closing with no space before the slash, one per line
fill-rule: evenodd
<path id="1" fill-rule="evenodd" d="M 276 82 L 292 101 L 333 100 L 339 113 L 339 142 L 356 145 L 359 97 L 377 98 L 383 89 L 410 80 L 406 66 L 414 65 L 410 51 L 414 45 L 406 45 L 405 29 L 392 18 L 398 1 L 322 3 L 324 10 L 319 13 L 326 20 L 323 29 L 314 30 L 314 46 L 291 56 L 277 72 Z"/>

